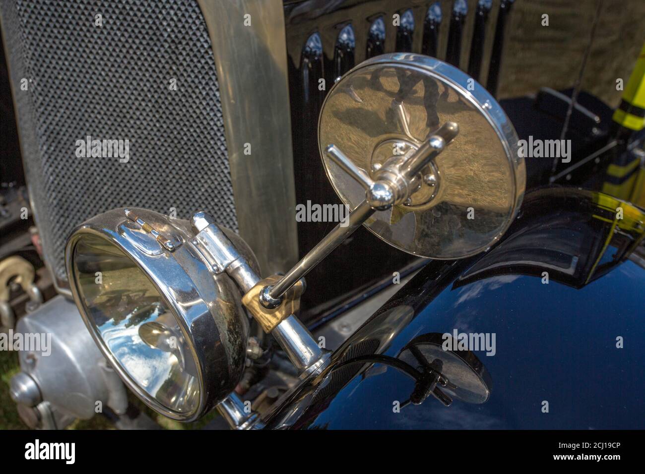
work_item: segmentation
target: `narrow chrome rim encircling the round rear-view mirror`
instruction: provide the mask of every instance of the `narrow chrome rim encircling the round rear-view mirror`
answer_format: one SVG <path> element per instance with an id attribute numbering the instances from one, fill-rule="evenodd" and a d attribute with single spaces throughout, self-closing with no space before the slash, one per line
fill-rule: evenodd
<path id="1" fill-rule="evenodd" d="M 403 252 L 412 253 L 413 255 L 421 257 L 449 260 L 470 257 L 471 255 L 476 255 L 477 253 L 487 250 L 492 244 L 499 240 L 504 232 L 506 232 L 508 226 L 510 226 L 510 223 L 513 221 L 513 218 L 519 210 L 519 206 L 521 205 L 522 198 L 524 196 L 524 189 L 526 186 L 526 168 L 524 164 L 524 158 L 519 155 L 517 133 L 515 132 L 513 125 L 510 123 L 510 120 L 508 119 L 508 117 L 506 117 L 506 114 L 504 114 L 504 111 L 502 110 L 501 106 L 499 106 L 497 101 L 495 101 L 495 99 L 488 93 L 488 91 L 486 91 L 486 89 L 478 83 L 475 83 L 473 90 L 468 90 L 468 86 L 473 84 L 471 81 L 474 81 L 474 79 L 472 79 L 461 70 L 451 66 L 450 64 L 439 61 L 438 59 L 410 53 L 381 55 L 373 57 L 372 59 L 368 59 L 367 61 L 364 61 L 363 63 L 355 66 L 355 68 L 346 73 L 339 81 L 337 81 L 337 83 L 333 85 L 324 99 L 318 124 L 319 152 L 324 164 L 325 172 L 328 179 L 330 180 L 330 183 L 332 183 L 333 189 L 335 190 L 337 195 L 339 195 L 344 204 L 347 204 L 348 206 L 350 206 L 350 208 L 355 207 L 357 202 L 354 202 L 355 199 L 348 197 L 348 195 L 350 194 L 348 193 L 348 187 L 345 186 L 344 190 L 339 188 L 337 183 L 337 180 L 339 179 L 339 175 L 336 172 L 337 170 L 333 169 L 334 164 L 332 164 L 332 162 L 330 162 L 330 160 L 326 157 L 325 148 L 330 144 L 326 143 L 329 140 L 328 137 L 324 136 L 325 132 L 323 131 L 324 114 L 326 107 L 330 103 L 330 100 L 333 100 L 332 97 L 334 96 L 334 92 L 340 92 L 342 90 L 342 87 L 344 86 L 344 81 L 346 81 L 346 79 L 348 79 L 351 75 L 362 73 L 362 70 L 364 70 L 365 68 L 373 68 L 374 66 L 379 65 L 384 67 L 392 66 L 393 68 L 406 68 L 406 70 L 413 70 L 415 72 L 421 73 L 422 75 L 432 77 L 437 82 L 446 84 L 450 88 L 454 89 L 459 94 L 459 98 L 464 100 L 464 103 L 468 103 L 472 110 L 476 110 L 477 112 L 479 112 L 479 114 L 481 114 L 482 117 L 484 117 L 486 123 L 488 124 L 488 126 L 490 126 L 492 132 L 494 132 L 495 136 L 497 137 L 499 144 L 501 144 L 503 155 L 500 155 L 500 158 L 502 156 L 505 156 L 505 159 L 501 159 L 500 161 L 507 163 L 508 166 L 508 170 L 506 170 L 509 179 L 508 211 L 506 210 L 506 208 L 504 208 L 504 215 L 506 217 L 504 217 L 504 219 L 499 219 L 502 222 L 502 225 L 496 226 L 496 232 L 490 232 L 490 235 L 486 236 L 485 242 L 482 238 L 480 239 L 482 241 L 481 244 L 477 242 L 478 244 L 476 246 L 474 244 L 471 245 L 466 252 L 459 253 L 451 250 L 450 252 L 452 252 L 454 255 L 448 256 L 434 254 L 430 255 L 428 254 L 428 252 L 416 252 L 410 250 L 410 248 L 405 248 L 404 246 L 397 244 L 397 242 L 392 241 L 392 239 L 384 237 L 383 235 L 381 235 L 381 233 L 379 233 L 378 230 L 372 228 L 372 226 L 375 225 L 377 226 L 377 228 L 380 228 L 382 230 L 382 228 L 386 226 L 386 224 L 384 224 L 382 221 L 377 220 L 376 215 L 372 219 L 364 222 L 364 226 L 368 228 L 368 230 L 370 230 L 370 232 L 372 232 L 374 235 L 379 237 L 379 239 L 387 242 L 395 248 L 398 248 Z M 364 107 L 364 104 L 359 104 L 361 102 L 361 100 L 359 100 L 361 99 L 361 97 L 359 97 L 359 94 L 349 95 L 352 96 L 353 100 L 357 102 L 357 107 Z M 450 120 L 453 120 L 453 118 L 450 117 Z M 459 124 L 458 119 L 455 119 L 455 121 Z M 394 135 L 394 133 L 391 132 L 392 130 L 388 130 L 388 132 L 382 134 L 381 137 L 387 137 L 388 139 L 391 139 L 392 137 L 390 135 Z M 329 133 L 327 132 L 327 134 Z M 461 130 L 460 135 L 457 137 L 457 139 L 455 139 L 455 143 L 462 139 L 463 135 L 464 130 Z M 418 138 L 419 137 L 417 137 L 417 139 Z M 338 143 L 334 144 L 339 145 Z M 450 150 L 450 146 L 448 147 L 448 150 Z M 350 155 L 350 153 L 348 153 L 348 150 L 343 151 L 346 153 L 346 155 Z M 372 150 L 368 150 L 368 153 L 372 153 Z M 443 159 L 444 157 L 446 157 L 446 153 L 447 152 L 443 152 L 440 157 L 442 157 Z M 364 166 L 361 166 L 361 164 L 355 164 L 357 164 L 359 168 L 364 169 Z M 333 171 L 332 169 L 330 169 L 330 167 L 333 169 Z M 366 170 L 366 172 L 370 173 L 370 170 Z M 445 170 L 442 170 L 441 167 L 439 168 L 438 172 L 435 173 L 440 186 L 441 181 L 446 179 L 444 174 Z M 445 188 L 439 188 L 439 190 L 435 189 L 435 192 L 430 199 L 435 200 L 435 204 L 441 204 L 444 199 L 444 190 Z M 350 191 L 352 191 L 353 193 L 355 190 Z M 428 206 L 428 208 L 434 206 L 435 204 L 431 204 L 430 206 Z M 414 211 L 415 209 L 412 208 L 411 210 Z"/>

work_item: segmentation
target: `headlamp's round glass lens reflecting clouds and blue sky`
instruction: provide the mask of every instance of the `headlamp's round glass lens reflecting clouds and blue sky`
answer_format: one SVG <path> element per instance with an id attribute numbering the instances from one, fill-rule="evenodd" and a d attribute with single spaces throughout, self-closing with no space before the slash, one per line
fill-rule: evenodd
<path id="1" fill-rule="evenodd" d="M 74 249 L 79 297 L 95 336 L 137 386 L 166 408 L 199 404 L 190 348 L 172 311 L 139 267 L 117 246 L 84 235 Z"/>

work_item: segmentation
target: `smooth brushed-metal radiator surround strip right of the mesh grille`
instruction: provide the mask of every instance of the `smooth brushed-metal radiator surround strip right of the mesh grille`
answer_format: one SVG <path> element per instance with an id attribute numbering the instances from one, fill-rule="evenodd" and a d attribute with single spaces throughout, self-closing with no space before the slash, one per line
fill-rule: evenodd
<path id="1" fill-rule="evenodd" d="M 213 44 L 239 233 L 263 275 L 284 272 L 298 241 L 283 3 L 197 2 Z"/>

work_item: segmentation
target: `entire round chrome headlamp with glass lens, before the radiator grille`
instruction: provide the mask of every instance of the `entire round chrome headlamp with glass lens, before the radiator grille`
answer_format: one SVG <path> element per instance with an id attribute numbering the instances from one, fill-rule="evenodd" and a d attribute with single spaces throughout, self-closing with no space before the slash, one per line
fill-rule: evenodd
<path id="1" fill-rule="evenodd" d="M 235 233 L 224 232 L 255 262 Z M 65 258 L 92 337 L 150 408 L 191 421 L 235 388 L 248 319 L 237 285 L 204 259 L 189 222 L 112 210 L 72 233 Z"/>

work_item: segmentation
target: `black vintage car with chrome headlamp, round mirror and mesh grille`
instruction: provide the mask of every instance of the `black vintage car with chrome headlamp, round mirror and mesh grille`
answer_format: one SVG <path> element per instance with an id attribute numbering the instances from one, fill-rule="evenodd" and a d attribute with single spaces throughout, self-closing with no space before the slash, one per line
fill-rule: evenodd
<path id="1" fill-rule="evenodd" d="M 0 20 L 0 413 L 645 428 L 642 1 Z"/>

